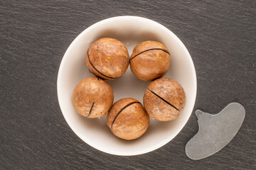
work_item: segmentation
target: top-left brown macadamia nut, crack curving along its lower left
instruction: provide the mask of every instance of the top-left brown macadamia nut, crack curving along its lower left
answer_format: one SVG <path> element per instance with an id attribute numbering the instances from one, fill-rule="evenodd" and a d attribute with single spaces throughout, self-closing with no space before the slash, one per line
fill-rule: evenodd
<path id="1" fill-rule="evenodd" d="M 100 38 L 87 50 L 86 65 L 92 74 L 102 79 L 116 79 L 129 66 L 127 47 L 114 38 Z"/>

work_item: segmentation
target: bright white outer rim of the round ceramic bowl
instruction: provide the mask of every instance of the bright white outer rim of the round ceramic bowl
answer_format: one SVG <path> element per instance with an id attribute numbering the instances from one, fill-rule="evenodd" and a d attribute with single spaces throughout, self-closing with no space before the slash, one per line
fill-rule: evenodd
<path id="1" fill-rule="evenodd" d="M 85 137 L 83 137 L 82 135 L 80 135 L 79 132 L 75 132 L 75 130 L 73 130 L 72 128 L 72 125 L 70 125 L 68 123 L 68 119 L 65 117 L 65 114 L 63 113 L 63 106 L 61 105 L 60 103 L 60 89 L 58 88 L 60 85 L 60 74 L 63 72 L 63 63 L 65 62 L 65 60 L 67 60 L 67 54 L 68 52 L 70 51 L 70 49 L 73 48 L 73 46 L 75 45 L 75 42 L 78 41 L 78 39 L 82 36 L 82 35 L 85 35 L 87 32 L 89 32 L 90 30 L 92 30 L 93 28 L 97 27 L 97 26 L 100 26 L 102 24 L 105 24 L 105 23 L 108 23 L 108 22 L 111 22 L 111 21 L 117 21 L 117 20 L 141 20 L 141 21 L 146 21 L 146 22 L 149 22 L 149 23 L 153 23 L 155 26 L 157 27 L 160 27 L 161 29 L 164 29 L 164 31 L 166 33 L 169 33 L 169 35 L 171 35 L 172 38 L 176 39 L 176 42 L 178 42 L 182 47 L 183 49 L 185 50 L 186 52 L 186 55 L 189 56 L 189 62 L 190 64 L 192 64 L 193 66 L 193 86 L 194 86 L 194 89 L 193 89 L 193 107 L 190 108 L 190 115 L 188 116 L 187 120 L 184 120 L 183 121 L 183 125 L 181 128 L 179 128 L 179 130 L 176 130 L 176 133 L 174 133 L 174 135 L 171 135 L 170 137 L 166 138 L 166 140 L 163 140 L 162 142 L 160 142 L 158 145 L 154 145 L 152 147 L 149 147 L 148 149 L 144 149 L 144 150 L 141 150 L 141 151 L 138 151 L 138 152 L 133 152 L 132 154 L 131 153 L 123 153 L 123 152 L 113 152 L 112 150 L 110 149 L 106 149 L 106 148 L 102 148 L 102 147 L 99 147 L 98 145 L 94 145 L 93 142 L 90 142 L 90 140 L 87 140 Z M 112 18 L 106 18 L 102 21 L 98 21 L 97 23 L 94 23 L 92 24 L 92 26 L 89 26 L 87 28 L 85 28 L 85 30 L 82 31 L 82 33 L 80 33 L 74 40 L 73 42 L 70 43 L 68 49 L 65 51 L 65 54 L 63 55 L 63 58 L 60 62 L 60 67 L 58 69 L 58 76 L 57 76 L 57 96 L 58 96 L 58 103 L 59 103 L 59 106 L 60 106 L 60 111 L 61 113 L 63 114 L 63 117 L 65 118 L 65 121 L 66 123 L 68 123 L 69 127 L 71 128 L 71 130 L 73 130 L 73 132 L 75 132 L 76 135 L 78 135 L 78 137 L 80 137 L 80 139 L 84 142 L 87 143 L 87 145 L 90 145 L 91 147 L 97 149 L 97 150 L 100 150 L 101 152 L 105 152 L 107 154 L 114 154 L 114 155 L 119 155 L 119 156 L 135 156 L 135 155 L 139 155 L 139 154 L 146 154 L 148 152 L 152 152 L 156 149 L 159 149 L 160 147 L 163 147 L 164 145 L 166 145 L 168 142 L 170 142 L 171 140 L 174 139 L 174 137 L 176 137 L 176 135 L 178 135 L 179 132 L 181 132 L 181 130 L 185 127 L 186 123 L 188 122 L 188 119 L 191 117 L 191 114 L 192 114 L 192 111 L 193 111 L 193 108 L 195 106 L 195 103 L 196 103 L 196 94 L 197 94 L 197 79 L 196 79 L 196 69 L 194 67 L 194 64 L 193 64 L 193 60 L 191 58 L 191 55 L 189 54 L 186 46 L 183 44 L 183 42 L 181 42 L 181 40 L 173 33 L 171 32 L 171 30 L 169 30 L 168 28 L 166 28 L 165 26 L 161 25 L 161 23 L 157 23 L 156 21 L 153 21 L 151 19 L 148 19 L 148 18 L 144 18 L 144 17 L 141 17 L 141 16 L 114 16 Z"/>

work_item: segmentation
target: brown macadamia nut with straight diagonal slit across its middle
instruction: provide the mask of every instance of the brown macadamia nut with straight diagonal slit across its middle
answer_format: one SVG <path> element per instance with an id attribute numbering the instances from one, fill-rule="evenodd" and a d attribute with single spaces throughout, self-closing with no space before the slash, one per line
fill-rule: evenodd
<path id="1" fill-rule="evenodd" d="M 181 84 L 167 78 L 152 81 L 143 98 L 146 112 L 160 121 L 176 119 L 183 110 L 185 102 L 186 94 Z"/>

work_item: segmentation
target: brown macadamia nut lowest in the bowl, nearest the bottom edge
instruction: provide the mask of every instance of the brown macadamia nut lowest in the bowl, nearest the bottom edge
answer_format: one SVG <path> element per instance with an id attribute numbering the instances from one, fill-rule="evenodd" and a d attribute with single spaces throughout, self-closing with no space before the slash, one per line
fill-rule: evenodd
<path id="1" fill-rule="evenodd" d="M 113 104 L 107 114 L 107 125 L 117 137 L 134 140 L 146 132 L 149 115 L 136 99 L 122 98 Z"/>

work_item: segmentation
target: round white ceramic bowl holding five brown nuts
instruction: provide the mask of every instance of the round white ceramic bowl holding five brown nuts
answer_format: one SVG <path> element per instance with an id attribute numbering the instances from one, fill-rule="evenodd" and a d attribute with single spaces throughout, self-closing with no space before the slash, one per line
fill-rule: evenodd
<path id="1" fill-rule="evenodd" d="M 150 120 L 148 130 L 137 140 L 126 141 L 115 137 L 106 125 L 106 116 L 88 119 L 79 115 L 72 104 L 76 84 L 93 77 L 85 64 L 87 48 L 98 38 L 116 38 L 132 54 L 133 48 L 145 40 L 163 43 L 171 53 L 171 67 L 164 77 L 175 79 L 186 92 L 186 106 L 176 120 Z M 144 91 L 150 82 L 134 77 L 130 69 L 119 79 L 107 81 L 114 90 L 114 101 L 132 97 L 143 103 Z M 58 71 L 58 101 L 70 128 L 88 145 L 102 152 L 117 155 L 137 155 L 151 152 L 170 142 L 184 127 L 196 101 L 196 71 L 188 50 L 174 33 L 155 21 L 137 16 L 108 18 L 85 29 L 68 47 Z"/>

